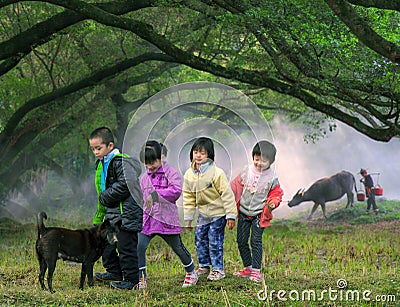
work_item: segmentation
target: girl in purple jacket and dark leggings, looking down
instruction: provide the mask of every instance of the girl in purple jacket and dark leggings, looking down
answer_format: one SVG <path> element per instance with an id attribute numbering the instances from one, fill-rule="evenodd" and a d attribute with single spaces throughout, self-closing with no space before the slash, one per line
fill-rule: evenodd
<path id="1" fill-rule="evenodd" d="M 182 193 L 182 182 L 178 172 L 161 160 L 162 148 L 157 141 L 147 141 L 140 153 L 146 172 L 140 179 L 142 188 L 143 228 L 139 233 L 139 288 L 146 287 L 146 250 L 155 236 L 160 236 L 180 258 L 186 271 L 183 287 L 197 283 L 197 272 L 193 259 L 182 243 L 182 227 L 176 201 Z"/>

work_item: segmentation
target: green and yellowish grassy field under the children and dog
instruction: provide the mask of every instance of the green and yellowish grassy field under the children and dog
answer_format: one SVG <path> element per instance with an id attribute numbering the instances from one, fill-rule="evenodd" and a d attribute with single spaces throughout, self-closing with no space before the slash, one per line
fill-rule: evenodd
<path id="1" fill-rule="evenodd" d="M 235 230 L 226 231 L 227 277 L 181 287 L 184 270 L 156 238 L 148 250 L 148 289 L 118 291 L 106 284 L 79 290 L 80 264 L 58 261 L 53 286 L 42 291 L 34 253 L 36 224 L 0 220 L 0 306 L 400 306 L 400 202 L 379 203 L 379 215 L 328 206 L 328 221 L 309 210 L 275 220 L 264 234 L 265 283 L 232 275 L 241 269 Z M 332 208 L 332 209 L 330 209 Z M 82 220 L 48 226 L 84 227 Z M 182 238 L 195 257 L 193 232 Z M 95 271 L 103 271 L 101 262 Z M 314 296 L 315 295 L 315 296 Z"/>

